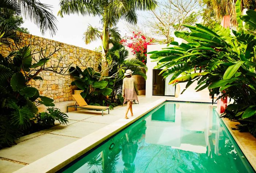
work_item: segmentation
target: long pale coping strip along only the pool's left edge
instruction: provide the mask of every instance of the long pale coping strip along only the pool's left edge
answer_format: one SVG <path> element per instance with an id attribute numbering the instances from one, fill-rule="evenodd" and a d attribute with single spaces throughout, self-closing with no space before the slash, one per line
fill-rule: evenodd
<path id="1" fill-rule="evenodd" d="M 67 146 L 62 147 L 59 150 L 50 153 L 31 164 L 24 166 L 21 169 L 15 171 L 15 173 L 52 173 L 63 168 L 65 165 L 72 162 L 74 159 L 90 151 L 95 146 L 99 145 L 109 137 L 112 137 L 117 132 L 121 131 L 125 127 L 129 126 L 136 120 L 140 119 L 142 116 L 146 115 L 148 112 L 152 111 L 168 99 L 158 99 L 153 103 L 149 104 L 147 108 L 142 109 L 139 116 L 133 119 L 120 119 L 116 122 L 109 124 L 77 141 L 70 143 Z M 105 134 L 102 136 L 102 134 Z M 88 140 L 89 139 L 89 140 Z"/>

